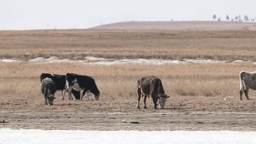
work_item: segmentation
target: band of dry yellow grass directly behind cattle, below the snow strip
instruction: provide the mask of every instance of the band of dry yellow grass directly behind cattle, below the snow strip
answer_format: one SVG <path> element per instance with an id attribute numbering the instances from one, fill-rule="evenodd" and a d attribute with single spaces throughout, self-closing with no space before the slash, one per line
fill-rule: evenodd
<path id="1" fill-rule="evenodd" d="M 219 96 L 221 99 L 233 96 L 238 99 L 239 72 L 254 71 L 255 67 L 253 64 L 228 63 L 159 66 L 0 63 L 0 99 L 43 98 L 39 80 L 42 72 L 92 76 L 102 90 L 102 97 L 136 99 L 137 78 L 155 75 L 162 79 L 170 96 Z M 251 91 L 250 95 L 253 93 Z"/>

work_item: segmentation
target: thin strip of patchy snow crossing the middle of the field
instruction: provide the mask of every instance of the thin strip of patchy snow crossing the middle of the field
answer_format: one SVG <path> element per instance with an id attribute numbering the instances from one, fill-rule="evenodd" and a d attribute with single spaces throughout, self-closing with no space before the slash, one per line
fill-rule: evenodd
<path id="1" fill-rule="evenodd" d="M 24 62 L 22 59 L 10 58 L 0 59 L 0 62 L 12 63 L 12 62 Z M 163 65 L 163 64 L 189 64 L 189 63 L 254 63 L 252 61 L 218 61 L 210 59 L 183 59 L 180 60 L 165 60 L 165 59 L 105 59 L 92 56 L 86 56 L 83 60 L 73 59 L 60 59 L 57 56 L 51 56 L 49 58 L 37 57 L 28 60 L 30 63 L 83 63 L 83 64 L 98 64 L 98 65 L 113 65 L 113 64 L 150 64 L 150 65 Z M 254 63 L 256 64 L 256 63 Z"/>

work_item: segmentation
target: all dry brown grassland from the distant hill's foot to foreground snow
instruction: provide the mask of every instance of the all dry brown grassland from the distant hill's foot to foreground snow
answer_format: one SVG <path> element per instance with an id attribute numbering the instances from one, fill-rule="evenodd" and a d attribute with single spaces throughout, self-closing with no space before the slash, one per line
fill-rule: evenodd
<path id="1" fill-rule="evenodd" d="M 0 31 L 0 58 L 52 55 L 74 60 L 104 58 L 209 58 L 256 61 L 254 31 L 33 30 Z M 75 58 L 74 58 L 75 57 Z M 86 65 L 0 63 L 0 128 L 84 130 L 256 130 L 256 92 L 239 100 L 239 72 L 253 63 Z M 60 100 L 44 106 L 42 72 L 74 72 L 95 78 L 99 101 Z M 136 80 L 162 79 L 165 109 L 137 109 Z M 142 101 L 141 101 L 142 105 Z M 141 107 L 142 108 L 142 107 Z M 124 121 L 138 121 L 130 124 Z"/>

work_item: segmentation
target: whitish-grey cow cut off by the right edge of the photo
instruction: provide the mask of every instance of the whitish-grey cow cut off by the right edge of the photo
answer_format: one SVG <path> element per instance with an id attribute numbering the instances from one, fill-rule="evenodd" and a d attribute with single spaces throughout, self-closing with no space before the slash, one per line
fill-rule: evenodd
<path id="1" fill-rule="evenodd" d="M 240 72 L 240 100 L 242 100 L 243 92 L 249 100 L 249 90 L 256 90 L 256 72 Z"/>

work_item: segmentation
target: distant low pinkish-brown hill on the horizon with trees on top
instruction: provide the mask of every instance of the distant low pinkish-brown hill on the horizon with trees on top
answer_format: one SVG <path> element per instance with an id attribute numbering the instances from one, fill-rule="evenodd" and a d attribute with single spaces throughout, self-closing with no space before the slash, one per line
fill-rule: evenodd
<path id="1" fill-rule="evenodd" d="M 128 21 L 91 29 L 256 30 L 256 23 L 228 21 Z"/>

